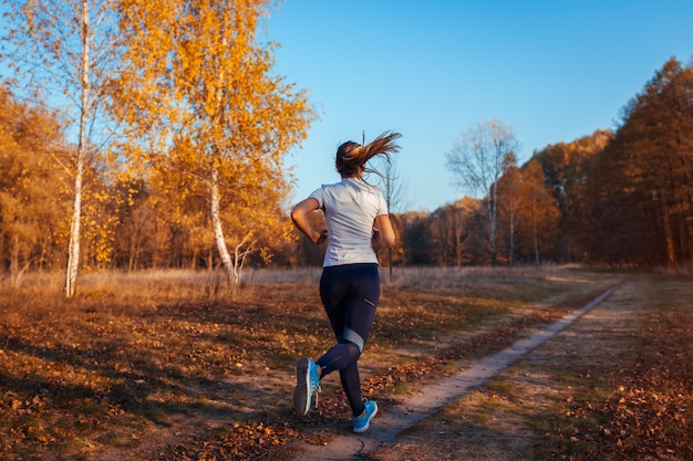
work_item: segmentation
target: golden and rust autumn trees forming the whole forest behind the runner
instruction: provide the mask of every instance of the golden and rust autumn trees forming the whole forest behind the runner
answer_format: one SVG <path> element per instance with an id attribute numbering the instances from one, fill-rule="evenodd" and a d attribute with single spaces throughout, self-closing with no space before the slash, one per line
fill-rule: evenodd
<path id="1" fill-rule="evenodd" d="M 288 219 L 289 149 L 316 117 L 256 40 L 272 2 L 12 2 L 0 92 L 0 269 L 319 265 Z M 61 7 L 56 7 L 60 4 Z M 60 94 L 62 106 L 49 105 Z M 55 99 L 51 99 L 52 103 Z M 518 165 L 501 121 L 468 127 L 448 168 L 474 190 L 393 212 L 385 266 L 693 261 L 693 64 L 664 62 L 616 129 Z M 373 177 L 396 210 L 401 182 Z M 322 219 L 318 213 L 314 219 Z"/>

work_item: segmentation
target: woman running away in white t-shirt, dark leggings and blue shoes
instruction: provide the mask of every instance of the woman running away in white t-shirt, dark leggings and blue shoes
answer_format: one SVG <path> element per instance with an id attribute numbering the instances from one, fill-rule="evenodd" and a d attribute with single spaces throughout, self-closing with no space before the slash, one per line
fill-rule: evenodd
<path id="1" fill-rule="evenodd" d="M 337 149 L 337 171 L 341 181 L 324 185 L 291 211 L 296 227 L 313 243 L 327 240 L 328 248 L 320 277 L 320 298 L 334 331 L 337 344 L 313 362 L 302 357 L 297 364 L 293 406 L 299 416 L 308 415 L 320 379 L 339 370 L 340 380 L 353 412 L 354 432 L 364 432 L 377 413 L 373 400 L 361 397 L 358 360 L 369 337 L 380 298 L 377 256 L 372 240 L 383 248 L 394 244 L 395 235 L 387 205 L 380 191 L 363 176 L 376 172 L 366 163 L 400 150 L 399 133 L 383 133 L 361 146 L 348 142 Z M 314 229 L 308 216 L 324 211 L 327 230 Z"/>

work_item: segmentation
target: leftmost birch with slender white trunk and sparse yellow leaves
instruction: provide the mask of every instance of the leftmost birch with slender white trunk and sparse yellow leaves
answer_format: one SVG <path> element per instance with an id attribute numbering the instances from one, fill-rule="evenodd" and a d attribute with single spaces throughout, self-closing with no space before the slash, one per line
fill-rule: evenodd
<path id="1" fill-rule="evenodd" d="M 59 105 L 72 123 L 75 148 L 63 166 L 73 177 L 65 295 L 76 292 L 84 175 L 108 138 L 104 86 L 118 63 L 113 2 L 9 1 L 10 53 L 2 57 L 28 83 Z"/>

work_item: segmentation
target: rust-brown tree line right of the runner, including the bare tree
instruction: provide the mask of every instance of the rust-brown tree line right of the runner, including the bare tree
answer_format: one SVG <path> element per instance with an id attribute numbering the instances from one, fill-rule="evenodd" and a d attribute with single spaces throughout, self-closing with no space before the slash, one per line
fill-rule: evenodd
<path id="1" fill-rule="evenodd" d="M 495 119 L 463 132 L 448 167 L 483 193 L 399 217 L 403 263 L 693 262 L 693 64 L 665 62 L 614 130 L 549 145 L 519 167 L 515 147 Z"/>

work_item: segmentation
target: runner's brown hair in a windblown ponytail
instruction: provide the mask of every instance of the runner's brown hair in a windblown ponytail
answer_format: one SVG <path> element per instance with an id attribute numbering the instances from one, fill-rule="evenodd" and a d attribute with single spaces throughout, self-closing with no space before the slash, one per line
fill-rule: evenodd
<path id="1" fill-rule="evenodd" d="M 342 144 L 337 149 L 337 171 L 345 177 L 361 176 L 362 170 L 379 174 L 372 168 L 366 168 L 366 161 L 377 155 L 384 156 L 390 161 L 390 154 L 400 151 L 395 140 L 401 137 L 399 133 L 385 132 L 365 146 L 352 140 Z"/>

